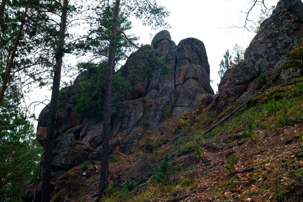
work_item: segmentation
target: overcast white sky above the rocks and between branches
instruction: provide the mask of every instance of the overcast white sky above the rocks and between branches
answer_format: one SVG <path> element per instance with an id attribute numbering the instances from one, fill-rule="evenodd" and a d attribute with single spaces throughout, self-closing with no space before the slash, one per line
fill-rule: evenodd
<path id="1" fill-rule="evenodd" d="M 277 0 L 266 0 L 268 7 L 277 4 Z M 167 22 L 171 25 L 169 32 L 172 40 L 179 43 L 180 40 L 194 37 L 204 42 L 211 67 L 211 79 L 214 79 L 212 87 L 217 91 L 217 83 L 220 82 L 218 76 L 219 64 L 223 59 L 226 50 L 232 52 L 233 46 L 237 43 L 247 47 L 251 39 L 255 36 L 253 31 L 248 32 L 243 28 L 230 28 L 233 25 L 243 26 L 247 12 L 253 4 L 249 0 L 157 0 L 159 5 L 163 5 L 170 11 Z M 250 14 L 250 19 L 258 21 L 261 7 L 256 7 Z M 132 33 L 140 37 L 139 43 L 147 44 L 161 30 L 151 30 L 142 26 L 141 21 L 133 21 Z M 150 38 L 150 35 L 152 37 Z M 70 60 L 70 59 L 66 59 Z M 75 61 L 66 61 L 66 63 Z M 50 99 L 51 92 L 35 90 L 36 96 L 32 96 L 31 101 L 44 100 L 45 96 Z M 44 106 L 35 109 L 36 116 Z"/>

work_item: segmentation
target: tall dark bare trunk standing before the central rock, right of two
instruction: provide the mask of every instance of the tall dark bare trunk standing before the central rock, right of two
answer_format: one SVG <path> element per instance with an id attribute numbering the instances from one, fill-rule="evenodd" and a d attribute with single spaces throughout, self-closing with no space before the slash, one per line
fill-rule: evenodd
<path id="1" fill-rule="evenodd" d="M 109 66 L 106 76 L 106 88 L 104 98 L 104 116 L 103 116 L 103 138 L 100 166 L 100 183 L 98 198 L 105 196 L 105 189 L 108 188 L 108 170 L 109 170 L 109 141 L 111 127 L 111 105 L 112 105 L 112 80 L 115 70 L 115 50 L 117 46 L 117 22 L 120 10 L 120 0 L 115 3 L 113 25 L 111 30 L 111 41 L 109 47 Z"/>

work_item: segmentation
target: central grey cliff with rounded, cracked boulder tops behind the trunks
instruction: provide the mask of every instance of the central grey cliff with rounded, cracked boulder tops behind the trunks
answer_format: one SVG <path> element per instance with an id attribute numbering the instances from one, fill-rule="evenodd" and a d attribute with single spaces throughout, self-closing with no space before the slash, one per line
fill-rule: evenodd
<path id="1" fill-rule="evenodd" d="M 151 45 L 144 48 L 155 48 L 157 56 L 171 68 L 172 73 L 161 75 L 156 72 L 150 80 L 142 78 L 143 82 L 135 84 L 129 78 L 129 71 L 146 59 L 140 50 L 130 55 L 119 71 L 131 82 L 132 89 L 125 94 L 124 101 L 115 106 L 117 113 L 113 115 L 111 124 L 111 150 L 120 146 L 129 153 L 134 140 L 141 138 L 139 134 L 146 127 L 157 131 L 165 113 L 181 115 L 198 105 L 201 99 L 210 103 L 214 94 L 203 42 L 187 38 L 176 45 L 168 31 L 161 31 Z M 54 172 L 71 169 L 87 160 L 98 160 L 102 149 L 102 119 L 82 119 L 73 110 L 78 89 L 78 80 L 64 89 L 68 98 L 65 109 L 57 116 Z M 41 144 L 46 131 L 46 117 L 47 108 L 44 108 L 37 128 L 37 139 Z"/>

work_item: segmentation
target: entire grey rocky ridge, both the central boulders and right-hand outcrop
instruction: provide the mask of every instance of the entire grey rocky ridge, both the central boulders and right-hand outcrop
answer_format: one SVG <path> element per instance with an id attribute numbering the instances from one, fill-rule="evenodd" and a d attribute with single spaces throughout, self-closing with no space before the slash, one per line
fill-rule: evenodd
<path id="1" fill-rule="evenodd" d="M 113 115 L 111 151 L 119 147 L 124 154 L 131 153 L 135 140 L 146 127 L 156 132 L 164 114 L 182 115 L 188 109 L 203 105 L 216 112 L 222 112 L 228 105 L 241 103 L 251 94 L 258 92 L 258 78 L 277 75 L 280 81 L 302 74 L 301 69 L 281 69 L 289 53 L 303 42 L 303 4 L 299 0 L 282 0 L 273 15 L 265 20 L 261 30 L 248 46 L 243 61 L 228 70 L 219 84 L 219 93 L 214 95 L 210 86 L 210 67 L 203 42 L 187 38 L 178 45 L 171 40 L 168 31 L 159 32 L 145 48 L 154 48 L 171 69 L 171 74 L 143 79 L 140 84 L 132 83 L 132 90 L 126 93 L 124 101 L 117 104 L 118 113 Z M 135 68 L 142 53 L 133 53 L 121 68 L 128 77 Z M 131 80 L 130 80 L 131 81 Z M 97 162 L 102 138 L 102 120 L 80 118 L 73 111 L 78 81 L 67 87 L 66 109 L 58 114 L 55 134 L 53 181 L 60 185 L 61 176 L 84 161 Z M 37 139 L 43 144 L 46 130 L 47 108 L 40 116 Z M 60 186 L 59 186 L 60 187 Z"/>

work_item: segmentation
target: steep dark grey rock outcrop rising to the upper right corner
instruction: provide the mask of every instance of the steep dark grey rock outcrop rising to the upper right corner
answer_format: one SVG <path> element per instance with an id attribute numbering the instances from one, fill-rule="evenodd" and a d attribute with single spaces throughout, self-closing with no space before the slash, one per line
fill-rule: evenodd
<path id="1" fill-rule="evenodd" d="M 260 75 L 268 78 L 288 59 L 289 53 L 303 41 L 303 4 L 300 0 L 280 1 L 270 18 L 247 47 L 240 64 L 229 69 L 219 84 L 213 107 L 222 111 L 237 98 L 249 97 L 256 90 Z M 287 70 L 280 72 L 285 79 Z M 299 70 L 292 74 L 295 77 Z M 289 77 L 288 77 L 289 78 Z"/>

